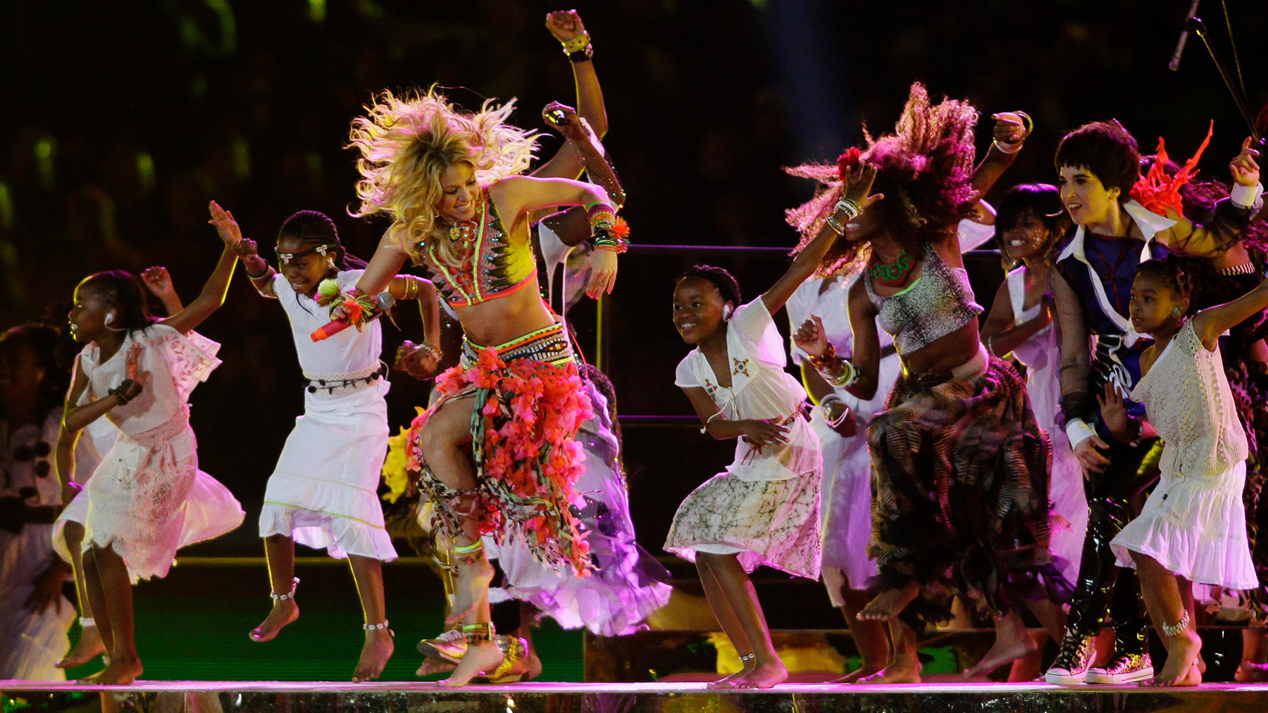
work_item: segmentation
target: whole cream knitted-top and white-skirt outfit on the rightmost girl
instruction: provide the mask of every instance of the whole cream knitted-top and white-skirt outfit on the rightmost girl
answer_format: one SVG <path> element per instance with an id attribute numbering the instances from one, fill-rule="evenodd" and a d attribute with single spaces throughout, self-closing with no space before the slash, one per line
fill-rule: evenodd
<path id="1" fill-rule="evenodd" d="M 1131 393 L 1161 436 L 1161 477 L 1136 519 L 1110 542 L 1120 566 L 1149 555 L 1184 579 L 1246 590 L 1259 585 L 1246 542 L 1241 489 L 1246 437 L 1219 347 L 1189 320 Z"/>

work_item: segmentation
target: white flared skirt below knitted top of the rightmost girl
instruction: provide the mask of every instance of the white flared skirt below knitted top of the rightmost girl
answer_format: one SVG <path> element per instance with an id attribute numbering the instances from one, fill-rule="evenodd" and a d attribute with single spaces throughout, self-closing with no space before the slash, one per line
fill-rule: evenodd
<path id="1" fill-rule="evenodd" d="M 1140 515 L 1110 542 L 1118 565 L 1135 567 L 1131 552 L 1140 552 L 1189 581 L 1259 586 L 1246 543 L 1245 480 L 1245 461 L 1211 476 L 1164 475 Z"/>

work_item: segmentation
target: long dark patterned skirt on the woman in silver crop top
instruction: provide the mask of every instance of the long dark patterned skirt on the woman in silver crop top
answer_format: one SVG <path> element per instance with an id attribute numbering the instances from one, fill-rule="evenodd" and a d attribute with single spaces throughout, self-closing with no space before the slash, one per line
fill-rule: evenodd
<path id="1" fill-rule="evenodd" d="M 1051 445 L 1011 365 L 992 356 L 973 381 L 899 377 L 867 438 L 869 555 L 881 588 L 919 585 L 907 623 L 948 621 L 956 591 L 990 615 L 1025 599 L 1069 600 L 1049 553 Z"/>

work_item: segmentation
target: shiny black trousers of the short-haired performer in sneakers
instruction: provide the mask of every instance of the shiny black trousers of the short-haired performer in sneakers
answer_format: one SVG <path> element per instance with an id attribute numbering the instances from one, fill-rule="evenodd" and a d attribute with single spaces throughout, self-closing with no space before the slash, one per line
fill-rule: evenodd
<path id="1" fill-rule="evenodd" d="M 1088 534 L 1083 539 L 1079 581 L 1070 604 L 1066 631 L 1083 636 L 1101 633 L 1106 609 L 1115 628 L 1118 653 L 1145 653 L 1149 618 L 1136 570 L 1115 565 L 1110 541 L 1136 515 L 1132 500 L 1158 481 L 1155 464 L 1145 464 L 1156 438 L 1140 446 L 1110 442 L 1110 465 L 1084 481 L 1088 496 Z"/>

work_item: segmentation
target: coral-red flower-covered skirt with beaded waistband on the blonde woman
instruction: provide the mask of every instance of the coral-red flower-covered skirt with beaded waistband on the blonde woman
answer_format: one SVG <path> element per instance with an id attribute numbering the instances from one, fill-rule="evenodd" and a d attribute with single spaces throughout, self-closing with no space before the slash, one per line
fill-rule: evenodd
<path id="1" fill-rule="evenodd" d="M 441 533 L 459 536 L 463 519 L 474 514 L 481 533 L 498 543 L 522 542 L 545 565 L 587 574 L 590 546 L 573 512 L 585 507 L 576 489 L 585 455 L 574 436 L 591 407 L 563 327 L 496 347 L 464 342 L 462 365 L 437 376 L 436 388 L 440 398 L 410 427 L 407 467 L 422 472 L 418 488 L 432 502 Z M 420 443 L 427 417 L 460 399 L 474 399 L 473 490 L 437 479 Z"/>

